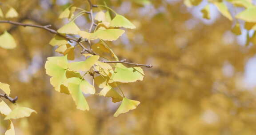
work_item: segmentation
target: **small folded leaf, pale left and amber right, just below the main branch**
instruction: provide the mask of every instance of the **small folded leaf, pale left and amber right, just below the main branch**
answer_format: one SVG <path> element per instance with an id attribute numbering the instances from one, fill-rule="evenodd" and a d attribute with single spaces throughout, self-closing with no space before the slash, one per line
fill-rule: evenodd
<path id="1" fill-rule="evenodd" d="M 70 44 L 63 44 L 59 46 L 55 52 L 59 52 L 60 54 L 67 55 L 68 60 L 74 60 L 75 54 L 74 54 L 75 47 L 71 46 Z"/>

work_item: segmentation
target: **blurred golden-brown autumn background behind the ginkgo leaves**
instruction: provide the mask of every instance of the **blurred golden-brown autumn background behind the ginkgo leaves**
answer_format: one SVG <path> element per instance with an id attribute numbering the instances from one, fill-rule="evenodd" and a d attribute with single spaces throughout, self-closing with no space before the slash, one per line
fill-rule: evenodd
<path id="1" fill-rule="evenodd" d="M 17 9 L 15 21 L 55 29 L 68 22 L 58 16 L 69 4 L 88 9 L 86 0 L 0 2 Z M 91 95 L 86 98 L 90 111 L 77 110 L 71 96 L 56 92 L 45 73 L 46 58 L 59 56 L 48 44 L 53 35 L 0 24 L 0 32 L 7 29 L 18 43 L 13 50 L 0 48 L 0 82 L 10 84 L 19 104 L 38 112 L 14 120 L 16 135 L 256 135 L 256 46 L 246 45 L 246 30 L 234 35 L 234 22 L 214 5 L 211 20 L 203 19 L 204 1 L 192 8 L 182 0 L 105 2 L 137 27 L 109 43 L 117 56 L 153 65 L 144 68 L 143 81 L 121 85 L 129 99 L 141 104 L 113 117 L 120 103 Z M 76 24 L 88 29 L 88 16 Z M 76 52 L 79 58 L 80 48 Z M 4 134 L 5 122 L 0 122 Z"/>

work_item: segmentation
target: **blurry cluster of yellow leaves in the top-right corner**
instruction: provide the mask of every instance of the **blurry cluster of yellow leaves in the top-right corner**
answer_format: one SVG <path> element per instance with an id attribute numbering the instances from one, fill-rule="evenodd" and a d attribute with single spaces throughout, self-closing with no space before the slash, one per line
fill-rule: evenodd
<path id="1" fill-rule="evenodd" d="M 253 4 L 253 0 L 207 0 L 208 4 L 201 10 L 203 18 L 211 19 L 210 16 L 210 4 L 214 4 L 220 13 L 234 22 L 232 32 L 236 35 L 241 35 L 241 29 L 246 30 L 256 30 L 256 6 Z M 184 4 L 188 7 L 197 6 L 202 2 L 202 0 L 184 0 Z M 227 6 L 229 5 L 229 6 Z M 232 6 L 231 6 L 232 5 Z M 234 9 L 228 8 L 233 7 Z M 232 16 L 230 11 L 240 11 L 234 12 Z M 253 44 L 256 43 L 256 34 L 249 36 L 247 34 L 247 45 L 249 42 Z"/>

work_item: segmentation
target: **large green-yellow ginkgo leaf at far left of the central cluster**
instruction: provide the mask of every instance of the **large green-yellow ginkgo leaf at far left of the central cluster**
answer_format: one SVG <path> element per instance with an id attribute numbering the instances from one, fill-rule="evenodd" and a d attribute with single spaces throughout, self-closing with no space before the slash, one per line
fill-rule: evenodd
<path id="1" fill-rule="evenodd" d="M 67 79 L 66 69 L 68 65 L 67 56 L 62 57 L 48 57 L 45 63 L 46 74 L 52 76 L 50 83 L 56 91 L 60 91 L 60 86 Z"/>

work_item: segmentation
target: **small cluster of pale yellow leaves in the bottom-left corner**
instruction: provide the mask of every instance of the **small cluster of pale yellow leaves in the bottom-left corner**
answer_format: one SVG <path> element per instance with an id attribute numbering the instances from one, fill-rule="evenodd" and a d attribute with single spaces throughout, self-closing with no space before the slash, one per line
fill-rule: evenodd
<path id="1" fill-rule="evenodd" d="M 0 82 L 0 89 L 4 91 L 6 95 L 10 95 L 10 86 L 6 83 Z M 16 107 L 12 110 L 5 102 L 4 100 L 0 99 L 0 113 L 5 116 L 4 120 L 9 121 L 9 129 L 5 132 L 4 135 L 15 135 L 15 130 L 13 123 L 11 119 L 19 119 L 23 117 L 29 117 L 32 112 L 35 112 L 35 110 L 32 110 L 28 107 L 21 107 L 16 104 Z"/>

